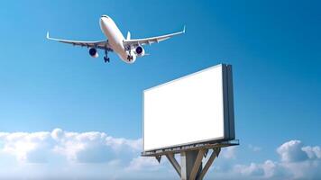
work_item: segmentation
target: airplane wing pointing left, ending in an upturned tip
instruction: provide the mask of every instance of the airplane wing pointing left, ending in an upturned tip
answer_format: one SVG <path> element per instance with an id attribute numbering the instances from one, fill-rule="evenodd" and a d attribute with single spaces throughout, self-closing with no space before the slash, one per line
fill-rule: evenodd
<path id="1" fill-rule="evenodd" d="M 108 43 L 108 40 L 96 40 L 96 41 L 60 40 L 60 39 L 50 38 L 49 32 L 47 32 L 47 39 L 48 40 L 56 40 L 56 41 L 67 43 L 67 44 L 72 44 L 74 46 L 96 48 L 96 49 L 105 49 L 108 51 L 113 51 L 113 49 L 111 48 L 111 46 Z"/>

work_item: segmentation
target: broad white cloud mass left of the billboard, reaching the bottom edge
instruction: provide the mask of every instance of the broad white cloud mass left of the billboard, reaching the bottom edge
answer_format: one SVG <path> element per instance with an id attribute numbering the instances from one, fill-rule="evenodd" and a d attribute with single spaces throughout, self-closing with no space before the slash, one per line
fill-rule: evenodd
<path id="1" fill-rule="evenodd" d="M 131 179 L 124 169 L 153 164 L 141 148 L 142 139 L 98 131 L 0 132 L 0 179 Z"/>

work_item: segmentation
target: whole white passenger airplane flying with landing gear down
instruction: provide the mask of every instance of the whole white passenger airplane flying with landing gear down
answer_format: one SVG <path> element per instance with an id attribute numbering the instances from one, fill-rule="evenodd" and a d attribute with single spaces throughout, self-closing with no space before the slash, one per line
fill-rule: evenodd
<path id="1" fill-rule="evenodd" d="M 47 32 L 48 40 L 56 40 L 63 43 L 72 44 L 74 46 L 87 47 L 89 49 L 89 55 L 93 58 L 98 58 L 97 49 L 105 50 L 104 61 L 109 62 L 108 52 L 113 52 L 118 54 L 124 62 L 132 64 L 137 57 L 141 58 L 148 54 L 142 48 L 143 45 L 155 42 L 160 42 L 162 40 L 168 40 L 173 36 L 185 33 L 185 26 L 183 31 L 178 31 L 162 36 L 143 38 L 143 39 L 131 39 L 131 32 L 127 32 L 127 37 L 124 39 L 122 32 L 118 29 L 115 22 L 107 15 L 102 15 L 100 17 L 100 29 L 105 34 L 107 40 L 96 40 L 96 41 L 79 41 L 79 40 L 60 40 L 56 38 L 50 38 L 49 31 Z"/>

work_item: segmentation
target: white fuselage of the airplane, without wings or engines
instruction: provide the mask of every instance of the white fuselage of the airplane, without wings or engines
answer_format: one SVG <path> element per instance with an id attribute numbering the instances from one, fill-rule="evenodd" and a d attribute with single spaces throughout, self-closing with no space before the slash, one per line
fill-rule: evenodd
<path id="1" fill-rule="evenodd" d="M 108 39 L 112 49 L 118 54 L 119 58 L 126 63 L 133 63 L 136 59 L 136 56 L 132 52 L 131 56 L 133 56 L 133 59 L 128 60 L 129 53 L 124 48 L 124 36 L 112 18 L 108 16 L 102 16 L 100 18 L 100 28 Z"/>

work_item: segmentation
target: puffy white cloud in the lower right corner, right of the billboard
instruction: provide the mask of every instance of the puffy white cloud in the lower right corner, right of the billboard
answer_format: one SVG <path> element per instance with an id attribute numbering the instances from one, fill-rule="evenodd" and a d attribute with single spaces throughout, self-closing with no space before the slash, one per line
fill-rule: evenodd
<path id="1" fill-rule="evenodd" d="M 289 140 L 277 148 L 280 161 L 234 165 L 228 176 L 233 179 L 319 179 L 320 147 L 304 146 L 300 140 Z"/>

